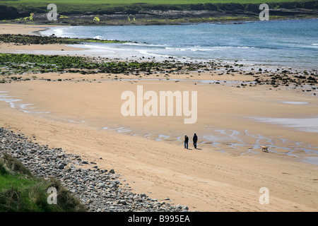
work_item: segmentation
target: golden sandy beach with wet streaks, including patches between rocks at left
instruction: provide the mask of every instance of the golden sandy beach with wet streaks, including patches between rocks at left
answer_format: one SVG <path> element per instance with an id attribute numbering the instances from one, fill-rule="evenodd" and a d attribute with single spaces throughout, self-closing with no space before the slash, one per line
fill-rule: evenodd
<path id="1" fill-rule="evenodd" d="M 0 25 L 28 34 L 35 25 Z M 59 50 L 65 45 L 0 44 L 0 52 Z M 298 88 L 254 85 L 253 76 L 211 73 L 151 76 L 43 73 L 0 84 L 0 127 L 115 169 L 132 191 L 189 211 L 317 211 L 317 96 Z M 61 81 L 58 81 L 58 80 Z M 237 84 L 245 83 L 240 88 Z M 252 85 L 251 85 L 252 84 Z M 124 117 L 121 95 L 196 91 L 197 120 Z M 146 100 L 144 100 L 146 103 Z M 192 136 L 199 136 L 194 149 Z M 189 149 L 183 136 L 190 138 Z M 261 146 L 269 148 L 263 152 Z M 100 159 L 102 158 L 102 159 Z M 269 189 L 269 204 L 259 189 Z"/>

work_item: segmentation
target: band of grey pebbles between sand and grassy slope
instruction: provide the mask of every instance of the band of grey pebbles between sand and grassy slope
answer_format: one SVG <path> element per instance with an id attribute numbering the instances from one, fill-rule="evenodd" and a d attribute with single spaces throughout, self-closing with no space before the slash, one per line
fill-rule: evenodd
<path id="1" fill-rule="evenodd" d="M 35 137 L 33 137 L 35 140 Z M 15 157 L 37 177 L 54 177 L 71 191 L 90 212 L 187 212 L 189 208 L 170 198 L 158 201 L 131 192 L 129 184 L 114 169 L 100 169 L 81 155 L 49 148 L 11 129 L 0 128 L 0 150 Z M 0 152 L 0 154 L 1 154 Z M 121 182 L 122 181 L 122 182 Z M 124 183 L 124 184 L 122 184 Z"/>

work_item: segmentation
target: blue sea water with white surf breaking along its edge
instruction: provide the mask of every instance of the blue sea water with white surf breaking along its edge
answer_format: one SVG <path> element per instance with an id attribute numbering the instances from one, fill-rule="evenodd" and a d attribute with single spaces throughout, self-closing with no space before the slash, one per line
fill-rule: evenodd
<path id="1" fill-rule="evenodd" d="M 318 69 L 318 19 L 199 23 L 190 25 L 73 26 L 42 35 L 125 43 L 85 43 L 84 54 L 228 61 Z"/>

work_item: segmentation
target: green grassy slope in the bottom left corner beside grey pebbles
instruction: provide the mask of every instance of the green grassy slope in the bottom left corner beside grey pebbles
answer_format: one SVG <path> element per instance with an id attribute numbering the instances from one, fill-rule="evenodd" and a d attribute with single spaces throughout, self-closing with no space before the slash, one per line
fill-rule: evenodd
<path id="1" fill-rule="evenodd" d="M 47 202 L 47 189 L 57 189 L 57 204 Z M 21 162 L 6 153 L 0 157 L 0 212 L 86 211 L 77 198 L 56 179 L 35 177 Z"/>

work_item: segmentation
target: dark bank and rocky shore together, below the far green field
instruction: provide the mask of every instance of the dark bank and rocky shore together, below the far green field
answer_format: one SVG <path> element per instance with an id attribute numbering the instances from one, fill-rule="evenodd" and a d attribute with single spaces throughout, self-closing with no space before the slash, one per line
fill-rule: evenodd
<path id="1" fill-rule="evenodd" d="M 107 5 L 107 4 L 106 4 Z M 57 20 L 48 20 L 47 5 L 0 6 L 0 19 L 6 23 L 57 25 L 170 25 L 259 20 L 260 4 L 58 4 Z M 270 20 L 317 18 L 317 0 L 269 2 Z M 1 23 L 1 22 L 0 22 Z"/>

